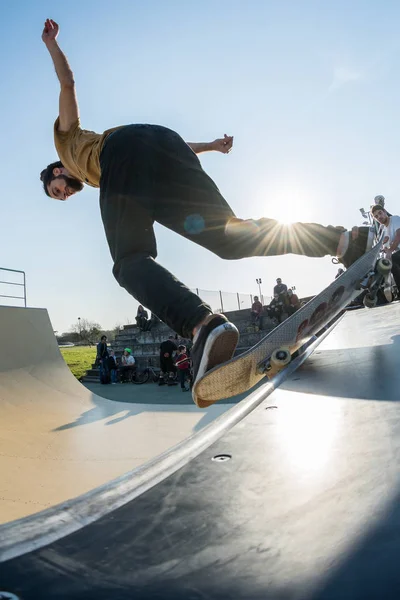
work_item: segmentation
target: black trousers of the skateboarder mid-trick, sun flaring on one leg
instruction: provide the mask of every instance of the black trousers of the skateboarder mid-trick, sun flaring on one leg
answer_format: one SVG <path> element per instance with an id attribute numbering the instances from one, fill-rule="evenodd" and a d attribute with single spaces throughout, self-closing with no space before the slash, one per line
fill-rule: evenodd
<path id="1" fill-rule="evenodd" d="M 236 219 L 194 152 L 165 127 L 115 131 L 104 144 L 100 166 L 100 208 L 114 276 L 183 337 L 191 338 L 211 309 L 155 261 L 155 221 L 229 260 L 336 254 L 340 231 L 333 227 L 295 223 L 288 229 L 273 219 Z"/>

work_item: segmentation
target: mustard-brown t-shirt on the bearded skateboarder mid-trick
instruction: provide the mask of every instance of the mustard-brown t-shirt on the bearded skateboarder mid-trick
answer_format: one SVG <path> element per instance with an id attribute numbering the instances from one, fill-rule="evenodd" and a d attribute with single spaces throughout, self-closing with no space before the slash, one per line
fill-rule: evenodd
<path id="1" fill-rule="evenodd" d="M 68 131 L 58 130 L 59 119 L 54 123 L 54 143 L 64 167 L 73 177 L 92 187 L 100 187 L 100 153 L 107 136 L 120 127 L 95 133 L 81 129 L 77 119 Z"/>

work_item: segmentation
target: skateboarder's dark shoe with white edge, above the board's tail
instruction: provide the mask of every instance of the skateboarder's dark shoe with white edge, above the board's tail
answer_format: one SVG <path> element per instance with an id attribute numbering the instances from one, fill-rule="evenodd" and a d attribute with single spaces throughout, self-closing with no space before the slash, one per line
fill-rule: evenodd
<path id="1" fill-rule="evenodd" d="M 210 315 L 193 338 L 191 351 L 193 385 L 217 365 L 230 360 L 239 340 L 239 331 L 225 315 Z"/>

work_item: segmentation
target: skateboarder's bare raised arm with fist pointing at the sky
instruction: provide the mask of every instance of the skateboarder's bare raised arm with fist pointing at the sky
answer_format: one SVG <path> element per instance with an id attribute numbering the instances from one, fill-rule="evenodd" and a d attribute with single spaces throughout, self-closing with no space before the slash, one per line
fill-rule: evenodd
<path id="1" fill-rule="evenodd" d="M 52 19 L 44 24 L 42 40 L 53 59 L 54 68 L 60 82 L 59 130 L 68 131 L 79 118 L 78 101 L 75 93 L 74 75 L 67 58 L 57 43 L 59 27 Z"/>

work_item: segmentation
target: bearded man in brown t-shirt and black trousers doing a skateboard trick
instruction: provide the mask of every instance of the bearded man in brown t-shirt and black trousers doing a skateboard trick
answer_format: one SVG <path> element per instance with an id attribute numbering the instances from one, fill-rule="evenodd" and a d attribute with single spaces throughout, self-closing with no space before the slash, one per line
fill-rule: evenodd
<path id="1" fill-rule="evenodd" d="M 231 136 L 186 143 L 158 125 L 126 125 L 102 134 L 81 129 L 72 70 L 48 19 L 42 40 L 60 82 L 54 141 L 59 161 L 41 173 L 45 193 L 67 200 L 84 184 L 100 188 L 100 210 L 118 283 L 183 337 L 193 338 L 194 381 L 229 360 L 236 327 L 156 262 L 155 221 L 227 260 L 301 254 L 337 256 L 347 267 L 372 245 L 368 227 L 352 232 L 315 223 L 291 226 L 235 216 L 196 154 L 227 154 Z"/>

